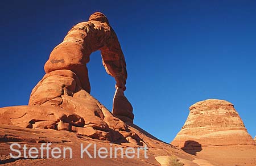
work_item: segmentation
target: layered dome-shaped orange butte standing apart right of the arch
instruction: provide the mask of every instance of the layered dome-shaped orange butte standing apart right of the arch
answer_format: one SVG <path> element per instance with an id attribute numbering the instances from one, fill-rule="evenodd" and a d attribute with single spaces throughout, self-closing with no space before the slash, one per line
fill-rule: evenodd
<path id="1" fill-rule="evenodd" d="M 174 146 L 187 150 L 255 144 L 232 103 L 209 99 L 193 104 L 189 110 L 187 121 L 171 142 Z"/>

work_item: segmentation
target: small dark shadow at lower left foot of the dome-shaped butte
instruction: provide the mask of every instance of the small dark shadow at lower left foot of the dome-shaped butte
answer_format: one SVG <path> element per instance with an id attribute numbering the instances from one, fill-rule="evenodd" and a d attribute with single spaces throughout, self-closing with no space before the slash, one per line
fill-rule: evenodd
<path id="1" fill-rule="evenodd" d="M 197 152 L 202 150 L 202 146 L 199 142 L 189 140 L 184 143 L 184 147 L 181 147 L 181 149 L 188 154 L 196 155 Z"/>

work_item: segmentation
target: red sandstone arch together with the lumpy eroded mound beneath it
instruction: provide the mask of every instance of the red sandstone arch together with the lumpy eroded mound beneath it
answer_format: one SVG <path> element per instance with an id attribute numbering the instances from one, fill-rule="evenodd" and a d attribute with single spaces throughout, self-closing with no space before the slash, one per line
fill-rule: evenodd
<path id="1" fill-rule="evenodd" d="M 106 73 L 116 81 L 113 113 L 90 95 L 86 64 L 96 50 L 101 50 Z M 104 14 L 96 12 L 88 22 L 73 26 L 52 50 L 44 70 L 46 74 L 32 90 L 28 106 L 0 109 L 1 124 L 68 130 L 94 139 L 143 144 L 125 123 L 132 124 L 134 118 L 133 107 L 124 95 L 126 62 Z"/>

